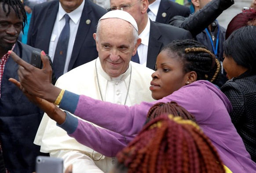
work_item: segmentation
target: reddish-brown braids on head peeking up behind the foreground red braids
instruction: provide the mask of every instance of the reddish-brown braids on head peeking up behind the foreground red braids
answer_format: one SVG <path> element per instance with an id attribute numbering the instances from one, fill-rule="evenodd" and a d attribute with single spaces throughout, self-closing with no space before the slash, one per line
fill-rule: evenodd
<path id="1" fill-rule="evenodd" d="M 152 119 L 155 119 L 159 115 L 163 115 L 163 114 L 165 115 L 172 114 L 173 116 L 180 116 L 183 119 L 190 119 L 196 122 L 194 116 L 191 115 L 185 108 L 178 105 L 176 102 L 171 101 L 167 103 L 158 102 L 155 105 L 153 105 L 146 116 L 147 117 L 146 123 L 148 123 Z"/>

